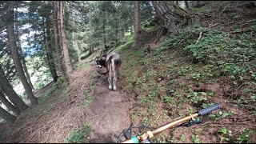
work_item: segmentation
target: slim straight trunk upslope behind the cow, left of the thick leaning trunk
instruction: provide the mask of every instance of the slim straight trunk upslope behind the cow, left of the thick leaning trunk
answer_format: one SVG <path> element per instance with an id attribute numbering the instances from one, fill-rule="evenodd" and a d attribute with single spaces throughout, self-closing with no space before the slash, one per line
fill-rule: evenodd
<path id="1" fill-rule="evenodd" d="M 134 42 L 138 45 L 139 34 L 141 32 L 140 18 L 139 18 L 139 5 L 138 1 L 134 1 Z"/>

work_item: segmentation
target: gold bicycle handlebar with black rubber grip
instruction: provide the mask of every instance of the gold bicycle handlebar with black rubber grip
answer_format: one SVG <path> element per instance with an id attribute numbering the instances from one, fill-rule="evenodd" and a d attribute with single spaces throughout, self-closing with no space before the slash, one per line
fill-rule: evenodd
<path id="1" fill-rule="evenodd" d="M 189 116 L 184 116 L 182 118 L 177 118 L 176 120 L 174 120 L 174 122 L 169 122 L 166 125 L 160 126 L 155 130 L 147 131 L 146 133 L 138 135 L 138 136 L 134 135 L 130 139 L 127 139 L 126 141 L 123 141 L 123 142 L 120 142 L 120 143 L 143 142 L 144 140 L 146 140 L 148 138 L 153 138 L 156 135 L 161 134 L 163 131 L 165 131 L 167 129 L 170 129 L 170 127 L 178 126 L 178 125 L 182 124 L 183 122 L 189 121 L 190 119 L 194 119 L 196 117 L 209 114 L 210 112 L 212 112 L 214 110 L 218 110 L 219 108 L 221 108 L 221 106 L 219 104 L 214 104 L 214 106 L 210 106 L 210 107 L 207 107 L 205 109 L 198 110 L 197 112 L 195 112 L 194 114 L 190 114 Z"/>

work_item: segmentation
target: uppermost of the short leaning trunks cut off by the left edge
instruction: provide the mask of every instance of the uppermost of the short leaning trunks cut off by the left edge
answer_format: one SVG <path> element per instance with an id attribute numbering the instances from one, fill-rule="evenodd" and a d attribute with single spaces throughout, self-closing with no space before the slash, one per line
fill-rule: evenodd
<path id="1" fill-rule="evenodd" d="M 0 65 L 0 88 L 6 94 L 6 96 L 10 99 L 10 102 L 14 104 L 15 107 L 18 108 L 20 112 L 26 110 L 28 106 L 25 102 L 22 101 L 22 98 L 18 97 L 18 94 L 14 91 L 13 87 L 8 82 L 8 79 L 5 76 L 4 71 L 2 70 L 2 66 Z"/>

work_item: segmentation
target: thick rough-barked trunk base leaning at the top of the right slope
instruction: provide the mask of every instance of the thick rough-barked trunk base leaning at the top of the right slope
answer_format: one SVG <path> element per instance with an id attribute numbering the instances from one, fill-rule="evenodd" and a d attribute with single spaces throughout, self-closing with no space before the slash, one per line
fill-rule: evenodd
<path id="1" fill-rule="evenodd" d="M 166 1 L 151 1 L 155 5 L 156 10 L 161 16 L 162 22 L 165 23 L 169 30 L 172 30 L 174 34 L 178 34 L 181 26 L 185 26 L 190 18 L 186 11 L 182 10 L 179 6 L 173 2 L 166 3 Z"/>

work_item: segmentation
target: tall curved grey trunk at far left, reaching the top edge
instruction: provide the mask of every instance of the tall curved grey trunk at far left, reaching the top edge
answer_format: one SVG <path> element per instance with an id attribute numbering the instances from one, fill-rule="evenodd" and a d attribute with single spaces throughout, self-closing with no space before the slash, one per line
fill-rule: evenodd
<path id="1" fill-rule="evenodd" d="M 9 2 L 9 7 L 7 11 L 7 18 L 8 18 L 8 24 L 7 24 L 7 34 L 8 34 L 8 41 L 10 45 L 11 54 L 14 60 L 14 66 L 16 67 L 18 77 L 20 78 L 22 85 L 24 86 L 24 89 L 26 90 L 26 94 L 28 98 L 30 99 L 31 105 L 38 104 L 37 98 L 34 97 L 34 94 L 32 92 L 32 88 L 30 87 L 30 84 L 26 80 L 26 76 L 24 74 L 24 71 L 22 69 L 22 62 L 19 59 L 18 54 L 18 47 L 15 42 L 14 37 L 14 2 Z"/>

